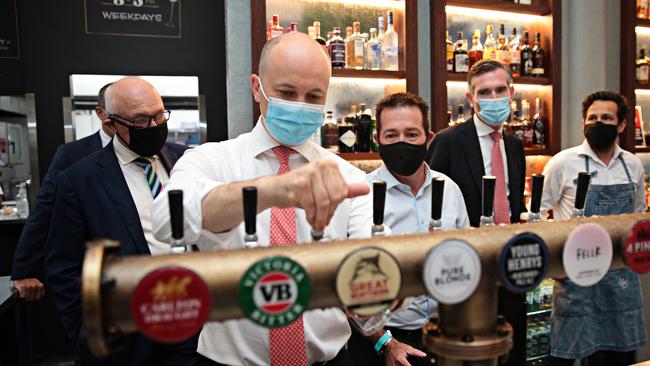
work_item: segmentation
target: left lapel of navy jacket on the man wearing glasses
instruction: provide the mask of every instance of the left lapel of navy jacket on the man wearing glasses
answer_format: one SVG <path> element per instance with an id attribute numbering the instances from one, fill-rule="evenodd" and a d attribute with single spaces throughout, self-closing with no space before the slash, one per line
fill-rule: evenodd
<path id="1" fill-rule="evenodd" d="M 138 209 L 135 207 L 117 156 L 115 156 L 112 141 L 102 149 L 101 155 L 97 159 L 97 165 L 99 166 L 99 169 L 97 169 L 99 181 L 119 212 L 120 218 L 128 229 L 137 251 L 140 254 L 151 254 L 144 238 Z"/>

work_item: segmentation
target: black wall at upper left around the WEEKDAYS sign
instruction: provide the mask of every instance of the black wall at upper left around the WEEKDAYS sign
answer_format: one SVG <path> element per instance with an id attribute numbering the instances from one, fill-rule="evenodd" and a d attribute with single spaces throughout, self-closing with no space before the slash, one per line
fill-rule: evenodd
<path id="1" fill-rule="evenodd" d="M 35 94 L 41 177 L 64 142 L 70 74 L 196 75 L 208 141 L 228 138 L 224 1 L 181 6 L 182 37 L 174 39 L 86 34 L 83 0 L 18 0 L 22 58 L 0 60 L 0 95 Z"/>

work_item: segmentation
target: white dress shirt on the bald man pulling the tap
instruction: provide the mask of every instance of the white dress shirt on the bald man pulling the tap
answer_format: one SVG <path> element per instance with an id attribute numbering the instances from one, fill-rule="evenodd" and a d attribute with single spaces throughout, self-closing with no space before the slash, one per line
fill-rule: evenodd
<path id="1" fill-rule="evenodd" d="M 172 170 L 167 189 L 183 190 L 185 239 L 199 243 L 201 250 L 237 249 L 244 247 L 244 223 L 232 230 L 214 234 L 202 228 L 202 200 L 214 187 L 261 176 L 275 175 L 279 162 L 271 149 L 278 146 L 262 122 L 250 133 L 219 143 L 206 143 L 188 150 Z M 296 169 L 317 159 L 336 161 L 346 181 L 366 182 L 366 174 L 335 154 L 311 141 L 292 147 L 298 154 L 289 159 Z M 168 240 L 169 210 L 166 195 L 154 202 L 154 231 L 160 240 Z M 224 208 L 227 209 L 227 208 Z M 271 210 L 257 214 L 257 235 L 260 246 L 270 240 Z M 311 227 L 305 211 L 296 209 L 298 244 L 311 241 Z M 368 238 L 372 227 L 372 196 L 365 195 L 344 200 L 336 209 L 325 237 L 329 239 Z M 303 314 L 308 363 L 332 359 L 350 337 L 350 326 L 338 308 L 310 310 Z M 198 352 L 219 363 L 229 365 L 269 364 L 269 332 L 248 319 L 206 323 L 201 331 Z"/>

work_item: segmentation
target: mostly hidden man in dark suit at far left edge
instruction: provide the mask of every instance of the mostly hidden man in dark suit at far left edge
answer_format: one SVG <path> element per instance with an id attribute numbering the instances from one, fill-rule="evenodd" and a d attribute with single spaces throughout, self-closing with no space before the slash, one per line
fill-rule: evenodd
<path id="1" fill-rule="evenodd" d="M 106 108 L 104 93 L 109 85 L 104 85 L 97 95 L 95 113 L 100 119 L 104 118 L 104 109 Z M 16 245 L 11 279 L 21 298 L 34 301 L 45 295 L 45 287 L 39 278 L 44 275 L 45 241 L 50 230 L 50 220 L 54 208 L 56 176 L 73 163 L 108 145 L 112 136 L 113 133 L 107 127 L 102 126 L 96 133 L 61 145 L 56 150 L 36 196 L 36 204 L 31 210 Z"/>

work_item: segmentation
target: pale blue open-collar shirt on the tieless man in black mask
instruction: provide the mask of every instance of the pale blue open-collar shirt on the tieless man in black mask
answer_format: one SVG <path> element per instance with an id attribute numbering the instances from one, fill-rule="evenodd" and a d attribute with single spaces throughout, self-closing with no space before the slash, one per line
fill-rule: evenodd
<path id="1" fill-rule="evenodd" d="M 391 228 L 393 235 L 426 233 L 429 231 L 431 218 L 431 179 L 444 178 L 445 189 L 442 199 L 442 228 L 457 229 L 469 226 L 469 217 L 465 208 L 463 193 L 453 180 L 435 170 L 426 170 L 424 184 L 413 196 L 411 188 L 390 173 L 382 165 L 368 174 L 368 183 L 376 180 L 386 182 L 386 206 L 384 209 L 384 224 Z M 436 302 L 429 296 L 418 296 L 404 310 L 393 313 L 388 322 L 389 327 L 406 330 L 422 328 L 431 314 L 438 308 Z"/>

